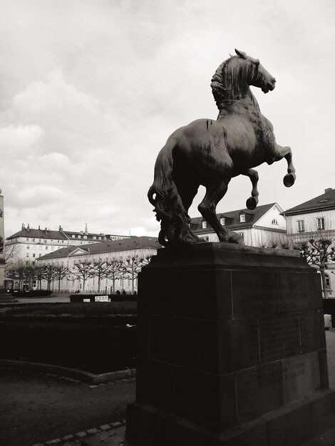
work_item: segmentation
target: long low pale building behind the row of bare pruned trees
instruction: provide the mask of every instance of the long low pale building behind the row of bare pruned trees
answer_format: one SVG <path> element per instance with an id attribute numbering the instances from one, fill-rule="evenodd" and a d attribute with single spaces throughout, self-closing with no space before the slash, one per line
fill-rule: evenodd
<path id="1" fill-rule="evenodd" d="M 36 265 L 53 265 L 63 267 L 67 273 L 57 282 L 53 281 L 53 289 L 61 291 L 103 292 L 110 294 L 114 291 L 123 290 L 129 294 L 137 291 L 137 275 L 140 267 L 148 264 L 151 256 L 157 253 L 162 246 L 155 237 L 128 237 L 119 240 L 105 240 L 95 244 L 83 244 L 82 246 L 63 247 L 56 251 L 48 252 L 44 256 L 38 257 Z M 113 283 L 113 279 L 106 279 L 104 274 L 100 283 L 98 283 L 98 273 L 83 279 L 83 275 L 78 275 L 75 271 L 76 264 L 96 262 L 103 264 L 104 261 L 115 261 L 117 270 Z M 122 263 L 122 264 L 121 264 Z M 127 271 L 125 271 L 127 269 Z M 85 283 L 84 283 L 85 282 Z M 42 288 L 47 287 L 45 280 L 41 283 Z M 36 284 L 35 284 L 36 286 Z"/>

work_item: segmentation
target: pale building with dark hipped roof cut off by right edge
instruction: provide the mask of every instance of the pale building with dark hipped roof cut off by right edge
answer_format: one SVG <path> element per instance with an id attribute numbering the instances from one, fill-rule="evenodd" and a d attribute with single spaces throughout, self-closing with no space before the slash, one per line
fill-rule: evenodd
<path id="1" fill-rule="evenodd" d="M 335 242 L 335 190 L 329 187 L 324 194 L 287 209 L 282 215 L 287 221 L 287 239 L 294 247 L 309 239 L 330 239 Z M 335 297 L 335 265 L 327 264 L 326 291 Z"/>

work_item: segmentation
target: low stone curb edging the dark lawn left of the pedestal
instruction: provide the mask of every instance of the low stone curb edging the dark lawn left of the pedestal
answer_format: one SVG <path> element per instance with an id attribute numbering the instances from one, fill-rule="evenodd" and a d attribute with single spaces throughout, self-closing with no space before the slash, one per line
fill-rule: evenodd
<path id="1" fill-rule="evenodd" d="M 30 363 L 26 361 L 14 361 L 11 359 L 0 359 L 0 368 L 11 368 L 14 370 L 25 370 L 28 372 L 48 373 L 60 376 L 61 378 L 74 378 L 84 383 L 100 384 L 110 381 L 133 378 L 136 376 L 135 368 L 127 368 L 125 370 L 116 370 L 115 372 L 94 373 L 79 370 L 77 368 L 67 368 L 60 365 L 50 365 L 43 363 Z"/>

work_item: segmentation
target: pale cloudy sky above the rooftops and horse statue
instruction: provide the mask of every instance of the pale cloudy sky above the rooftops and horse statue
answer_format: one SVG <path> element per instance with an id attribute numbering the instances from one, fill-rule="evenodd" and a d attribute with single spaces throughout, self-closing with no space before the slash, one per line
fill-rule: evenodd
<path id="1" fill-rule="evenodd" d="M 168 136 L 216 118 L 210 80 L 234 48 L 277 78 L 253 88 L 285 160 L 262 165 L 259 204 L 335 187 L 334 0 L 0 0 L 0 187 L 5 235 L 31 227 L 157 235 L 147 192 Z M 243 208 L 247 177 L 218 212 Z M 195 199 L 191 217 L 197 217 Z"/>

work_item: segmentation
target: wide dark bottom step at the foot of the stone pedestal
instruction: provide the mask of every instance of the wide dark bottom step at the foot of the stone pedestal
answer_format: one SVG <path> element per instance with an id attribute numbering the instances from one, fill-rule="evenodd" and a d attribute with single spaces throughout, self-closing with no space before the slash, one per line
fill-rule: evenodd
<path id="1" fill-rule="evenodd" d="M 335 392 L 328 389 L 222 434 L 133 403 L 128 405 L 125 435 L 136 446 L 299 446 L 334 426 Z"/>

